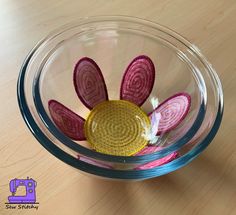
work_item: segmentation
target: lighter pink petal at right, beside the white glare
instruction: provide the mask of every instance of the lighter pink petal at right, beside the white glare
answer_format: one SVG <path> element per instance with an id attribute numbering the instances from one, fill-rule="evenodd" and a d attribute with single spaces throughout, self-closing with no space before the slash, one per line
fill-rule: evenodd
<path id="1" fill-rule="evenodd" d="M 191 97 L 189 94 L 177 93 L 149 113 L 150 117 L 154 112 L 161 114 L 157 134 L 166 133 L 177 127 L 189 112 L 190 105 Z"/>

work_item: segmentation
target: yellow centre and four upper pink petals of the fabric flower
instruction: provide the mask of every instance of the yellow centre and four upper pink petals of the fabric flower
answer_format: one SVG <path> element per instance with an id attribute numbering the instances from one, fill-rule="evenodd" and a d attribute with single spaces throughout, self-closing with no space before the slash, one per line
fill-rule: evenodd
<path id="1" fill-rule="evenodd" d="M 148 99 L 155 81 L 152 60 L 141 55 L 127 67 L 120 87 L 120 99 L 109 100 L 102 72 L 88 57 L 78 61 L 73 82 L 80 101 L 90 109 L 85 120 L 56 100 L 48 102 L 49 112 L 58 129 L 73 140 L 87 140 L 98 152 L 130 156 L 158 136 L 177 127 L 186 117 L 191 103 L 187 93 L 177 93 L 160 105 L 152 98 L 153 111 L 141 106 Z"/>

